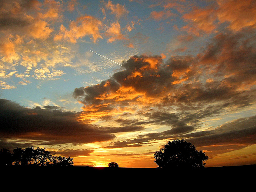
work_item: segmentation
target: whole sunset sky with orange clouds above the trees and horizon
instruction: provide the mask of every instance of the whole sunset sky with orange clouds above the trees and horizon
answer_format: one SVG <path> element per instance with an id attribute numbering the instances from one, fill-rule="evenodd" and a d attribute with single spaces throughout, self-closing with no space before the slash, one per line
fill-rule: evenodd
<path id="1" fill-rule="evenodd" d="M 0 0 L 0 148 L 156 168 L 256 164 L 255 0 Z"/>

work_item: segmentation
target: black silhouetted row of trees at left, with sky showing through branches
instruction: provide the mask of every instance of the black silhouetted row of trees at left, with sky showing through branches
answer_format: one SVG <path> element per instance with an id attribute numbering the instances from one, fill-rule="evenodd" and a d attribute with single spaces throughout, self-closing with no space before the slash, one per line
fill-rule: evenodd
<path id="1" fill-rule="evenodd" d="M 0 166 L 73 166 L 73 158 L 51 155 L 46 148 L 0 149 Z"/>

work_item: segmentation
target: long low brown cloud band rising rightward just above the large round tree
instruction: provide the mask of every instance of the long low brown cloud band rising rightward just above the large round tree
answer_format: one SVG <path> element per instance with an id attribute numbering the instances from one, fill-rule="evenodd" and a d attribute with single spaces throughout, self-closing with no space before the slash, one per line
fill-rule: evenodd
<path id="1" fill-rule="evenodd" d="M 164 132 L 138 135 L 136 138 L 112 142 L 107 148 L 123 148 L 128 146 L 138 147 L 148 145 L 155 140 L 182 137 L 185 138 L 186 141 L 193 143 L 197 148 L 204 148 L 204 150 L 207 150 L 207 154 L 213 157 L 217 154 L 238 150 L 255 144 L 255 120 L 256 116 L 241 118 L 228 122 L 213 130 L 204 130 L 191 134 L 186 133 L 194 129 L 182 126 L 183 132 L 180 129 L 176 132 L 176 129 L 174 129 Z"/>

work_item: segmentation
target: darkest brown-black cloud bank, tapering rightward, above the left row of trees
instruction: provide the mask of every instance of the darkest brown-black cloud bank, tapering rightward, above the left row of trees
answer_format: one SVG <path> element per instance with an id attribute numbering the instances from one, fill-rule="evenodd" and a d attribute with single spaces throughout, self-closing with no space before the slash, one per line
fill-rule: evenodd
<path id="1" fill-rule="evenodd" d="M 6 140 L 38 144 L 81 144 L 115 138 L 108 130 L 98 130 L 78 121 L 79 113 L 65 112 L 56 107 L 25 108 L 9 100 L 0 100 L 0 133 Z"/>

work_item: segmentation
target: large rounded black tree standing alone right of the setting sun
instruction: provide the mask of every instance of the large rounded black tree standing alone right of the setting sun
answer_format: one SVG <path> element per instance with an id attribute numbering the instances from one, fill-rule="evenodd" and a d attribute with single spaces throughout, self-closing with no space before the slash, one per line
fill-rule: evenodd
<path id="1" fill-rule="evenodd" d="M 154 158 L 158 168 L 203 168 L 208 156 L 182 139 L 169 141 L 154 154 Z"/>

